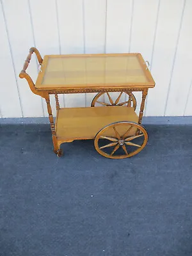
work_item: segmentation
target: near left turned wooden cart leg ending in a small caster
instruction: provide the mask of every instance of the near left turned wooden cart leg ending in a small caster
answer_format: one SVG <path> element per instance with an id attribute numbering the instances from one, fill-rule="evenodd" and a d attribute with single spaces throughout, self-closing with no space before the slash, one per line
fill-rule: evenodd
<path id="1" fill-rule="evenodd" d="M 62 150 L 60 149 L 60 146 L 58 145 L 58 140 L 56 138 L 56 131 L 55 131 L 55 127 L 54 127 L 54 120 L 52 117 L 52 109 L 51 109 L 49 95 L 47 95 L 47 97 L 45 97 L 45 100 L 47 102 L 47 111 L 49 113 L 49 122 L 51 124 L 52 143 L 53 143 L 53 147 L 54 147 L 54 153 L 57 156 L 61 156 Z"/>

